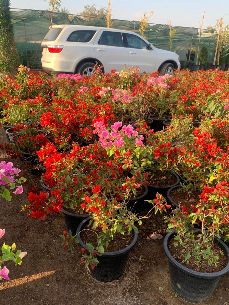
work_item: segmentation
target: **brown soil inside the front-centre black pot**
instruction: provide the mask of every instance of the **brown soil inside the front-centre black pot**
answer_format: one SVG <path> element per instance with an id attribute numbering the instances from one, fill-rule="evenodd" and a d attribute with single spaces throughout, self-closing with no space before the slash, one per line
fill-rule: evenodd
<path id="1" fill-rule="evenodd" d="M 86 226 L 85 229 L 89 229 L 91 230 L 91 228 L 89 226 Z M 99 235 L 100 233 L 102 233 L 101 228 L 96 228 L 96 230 L 92 231 L 88 231 L 88 230 L 83 230 L 80 233 L 81 239 L 82 241 L 86 244 L 87 242 L 90 242 L 93 244 L 93 246 L 97 245 L 97 235 L 96 233 Z M 114 252 L 114 251 L 119 251 L 122 250 L 124 248 L 126 248 L 127 246 L 129 246 L 131 244 L 133 240 L 133 235 L 129 234 L 129 235 L 122 235 L 122 234 L 117 234 L 115 235 L 114 239 L 111 240 L 111 242 L 109 242 L 109 245 L 107 248 L 105 249 L 105 252 Z"/>

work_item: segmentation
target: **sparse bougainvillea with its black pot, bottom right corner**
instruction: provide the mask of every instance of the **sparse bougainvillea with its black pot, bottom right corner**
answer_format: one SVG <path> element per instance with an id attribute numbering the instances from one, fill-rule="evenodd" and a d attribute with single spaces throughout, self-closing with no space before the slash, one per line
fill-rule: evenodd
<path id="1" fill-rule="evenodd" d="M 229 248 L 219 239 L 224 232 L 222 224 L 228 222 L 227 204 L 218 205 L 217 194 L 216 201 L 212 200 L 212 190 L 205 195 L 202 192 L 195 206 L 182 206 L 165 216 L 169 233 L 163 244 L 170 284 L 178 296 L 191 303 L 208 300 L 229 271 Z M 194 228 L 199 224 L 200 229 Z"/>

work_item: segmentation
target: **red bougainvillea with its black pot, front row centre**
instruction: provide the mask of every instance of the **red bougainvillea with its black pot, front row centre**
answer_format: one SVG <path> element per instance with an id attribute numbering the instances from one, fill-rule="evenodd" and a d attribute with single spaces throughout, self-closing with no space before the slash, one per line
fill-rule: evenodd
<path id="1" fill-rule="evenodd" d="M 75 236 L 64 232 L 61 238 L 63 246 L 70 249 L 74 241 L 80 244 L 82 261 L 85 267 L 89 267 L 93 278 L 111 282 L 122 276 L 129 252 L 137 242 L 135 222 L 140 225 L 145 216 L 137 217 L 126 209 L 124 203 L 105 199 L 98 186 L 94 188 L 97 192 L 89 198 L 85 197 L 86 210 L 92 216 L 82 221 Z M 155 199 L 152 209 L 166 210 L 166 206 L 161 206 Z"/>

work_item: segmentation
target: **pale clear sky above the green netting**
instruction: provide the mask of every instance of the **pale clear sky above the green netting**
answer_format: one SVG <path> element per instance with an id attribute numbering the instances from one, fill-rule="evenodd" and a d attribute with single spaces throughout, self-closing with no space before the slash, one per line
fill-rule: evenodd
<path id="1" fill-rule="evenodd" d="M 49 0 L 11 0 L 11 8 L 21 9 L 48 9 Z M 69 9 L 72 14 L 83 11 L 85 5 L 95 4 L 107 7 L 108 0 L 87 0 L 78 2 L 76 0 L 62 0 L 61 7 Z M 224 25 L 229 24 L 229 2 L 228 0 L 111 0 L 112 18 L 122 20 L 140 20 L 144 12 L 153 11 L 150 18 L 151 23 L 166 24 L 171 20 L 171 25 L 184 27 L 200 27 L 202 12 L 205 11 L 203 28 L 215 25 L 216 20 L 223 17 Z"/>

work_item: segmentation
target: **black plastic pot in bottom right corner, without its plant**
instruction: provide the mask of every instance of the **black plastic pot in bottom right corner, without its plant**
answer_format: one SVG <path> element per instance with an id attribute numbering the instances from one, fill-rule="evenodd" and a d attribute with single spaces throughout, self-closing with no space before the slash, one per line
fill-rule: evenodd
<path id="1" fill-rule="evenodd" d="M 196 230 L 196 232 L 199 231 Z M 194 271 L 178 263 L 169 253 L 168 243 L 175 234 L 175 231 L 168 233 L 163 242 L 164 251 L 169 260 L 170 284 L 183 300 L 190 303 L 205 302 L 211 297 L 220 278 L 229 271 L 229 248 L 222 240 L 215 237 L 215 244 L 223 250 L 227 257 L 227 266 L 223 270 L 213 273 Z"/>

